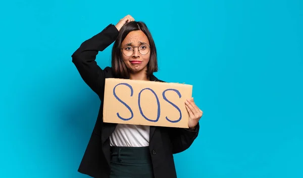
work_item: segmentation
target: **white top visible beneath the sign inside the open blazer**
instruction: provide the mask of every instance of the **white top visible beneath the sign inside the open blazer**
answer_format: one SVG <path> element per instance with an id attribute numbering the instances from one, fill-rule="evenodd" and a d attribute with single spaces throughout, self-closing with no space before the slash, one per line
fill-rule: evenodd
<path id="1" fill-rule="evenodd" d="M 118 124 L 110 136 L 111 146 L 149 146 L 149 126 Z"/>

